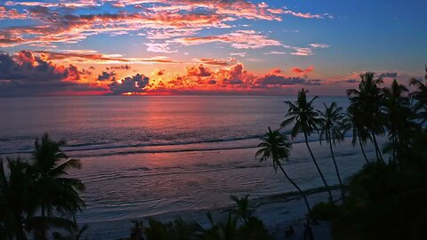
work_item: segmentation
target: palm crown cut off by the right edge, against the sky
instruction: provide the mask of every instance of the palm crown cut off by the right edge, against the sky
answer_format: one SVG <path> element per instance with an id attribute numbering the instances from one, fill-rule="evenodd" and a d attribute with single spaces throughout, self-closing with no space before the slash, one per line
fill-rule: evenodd
<path id="1" fill-rule="evenodd" d="M 427 66 L 425 66 L 425 72 L 427 73 Z M 427 74 L 424 76 L 427 80 Z M 415 101 L 414 111 L 417 113 L 417 117 L 422 121 L 421 124 L 427 122 L 427 84 L 423 84 L 422 80 L 412 78 L 410 81 L 411 85 L 415 85 L 418 90 L 411 92 L 409 97 Z"/>

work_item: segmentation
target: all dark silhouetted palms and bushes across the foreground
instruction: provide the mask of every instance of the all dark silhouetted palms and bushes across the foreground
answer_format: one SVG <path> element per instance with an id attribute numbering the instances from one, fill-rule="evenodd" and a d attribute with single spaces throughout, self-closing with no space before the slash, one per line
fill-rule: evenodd
<path id="1" fill-rule="evenodd" d="M 427 72 L 427 68 L 426 68 Z M 425 76 L 427 80 L 427 76 Z M 334 239 L 427 239 L 427 84 L 412 79 L 409 92 L 394 80 L 383 88 L 383 80 L 372 73 L 361 76 L 358 89 L 347 94 L 350 107 L 332 103 L 324 110 L 313 107 L 318 97 L 309 100 L 302 89 L 296 101 L 286 101 L 286 119 L 277 130 L 268 128 L 256 158 L 271 161 L 302 196 L 307 216 L 312 220 L 331 220 Z M 290 137 L 304 137 L 311 160 L 326 190 L 328 201 L 310 206 L 306 191 L 290 178 L 286 162 L 292 144 L 283 127 L 291 126 Z M 335 161 L 334 148 L 346 132 L 360 148 L 365 166 L 349 180 L 343 180 Z M 340 196 L 333 198 L 330 185 L 311 151 L 309 138 L 318 134 L 326 141 L 334 164 Z M 386 139 L 380 144 L 378 139 Z M 372 144 L 375 158 L 365 148 Z M 29 159 L 0 159 L 0 239 L 79 239 L 87 226 L 77 228 L 77 212 L 85 207 L 79 193 L 85 189 L 77 179 L 67 178 L 68 170 L 79 169 L 80 161 L 68 159 L 60 149 L 64 141 L 44 134 L 36 139 Z M 5 167 L 7 166 L 7 167 Z M 148 219 L 145 228 L 135 222 L 130 239 L 271 239 L 262 220 L 248 207 L 248 196 L 231 196 L 237 207 L 226 220 L 208 226 L 181 219 L 160 222 Z"/>

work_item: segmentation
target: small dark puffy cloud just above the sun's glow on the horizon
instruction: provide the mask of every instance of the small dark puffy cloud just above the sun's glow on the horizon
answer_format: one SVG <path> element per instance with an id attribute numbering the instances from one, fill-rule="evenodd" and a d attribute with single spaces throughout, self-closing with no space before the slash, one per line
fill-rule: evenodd
<path id="1" fill-rule="evenodd" d="M 149 77 L 137 74 L 135 76 L 126 76 L 118 82 L 109 84 L 111 94 L 120 95 L 125 93 L 145 92 L 145 87 L 149 84 Z"/>

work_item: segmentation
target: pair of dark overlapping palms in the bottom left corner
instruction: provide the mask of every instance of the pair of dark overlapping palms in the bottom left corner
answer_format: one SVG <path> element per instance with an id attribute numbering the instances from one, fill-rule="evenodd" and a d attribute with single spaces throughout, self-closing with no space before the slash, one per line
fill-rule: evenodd
<path id="1" fill-rule="evenodd" d="M 0 159 L 0 236 L 2 239 L 46 239 L 49 228 L 76 230 L 76 213 L 85 203 L 79 193 L 85 185 L 66 178 L 68 170 L 79 169 L 77 159 L 68 159 L 60 149 L 64 141 L 54 141 L 45 133 L 36 139 L 28 161 Z"/>

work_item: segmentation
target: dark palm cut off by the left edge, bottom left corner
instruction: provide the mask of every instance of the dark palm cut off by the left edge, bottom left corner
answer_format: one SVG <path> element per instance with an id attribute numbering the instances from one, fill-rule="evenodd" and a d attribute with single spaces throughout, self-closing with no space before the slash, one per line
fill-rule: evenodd
<path id="1" fill-rule="evenodd" d="M 2 239 L 25 240 L 25 221 L 33 212 L 30 197 L 30 180 L 28 164 L 6 158 L 9 174 L 4 172 L 3 159 L 0 158 L 0 228 Z"/>

